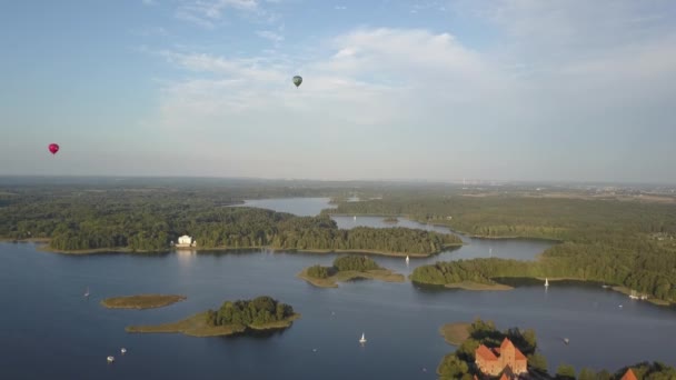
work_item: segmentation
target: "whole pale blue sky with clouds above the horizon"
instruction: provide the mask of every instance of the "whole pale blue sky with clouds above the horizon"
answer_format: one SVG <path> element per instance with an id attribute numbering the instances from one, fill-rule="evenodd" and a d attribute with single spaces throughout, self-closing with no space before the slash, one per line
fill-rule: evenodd
<path id="1" fill-rule="evenodd" d="M 672 0 L 2 0 L 0 51 L 0 174 L 676 182 Z"/>

